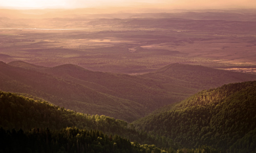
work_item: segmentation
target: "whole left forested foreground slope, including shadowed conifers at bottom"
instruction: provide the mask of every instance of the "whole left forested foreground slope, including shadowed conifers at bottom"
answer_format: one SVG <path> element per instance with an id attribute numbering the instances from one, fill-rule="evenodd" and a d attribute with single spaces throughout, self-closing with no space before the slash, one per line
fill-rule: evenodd
<path id="1" fill-rule="evenodd" d="M 209 146 L 183 148 L 164 136 L 136 131 L 123 120 L 10 92 L 0 91 L 0 105 L 0 152 L 218 152 Z"/>

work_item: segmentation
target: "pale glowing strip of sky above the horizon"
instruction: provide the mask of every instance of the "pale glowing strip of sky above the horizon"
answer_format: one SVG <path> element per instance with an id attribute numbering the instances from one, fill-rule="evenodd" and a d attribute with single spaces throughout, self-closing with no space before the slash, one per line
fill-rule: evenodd
<path id="1" fill-rule="evenodd" d="M 176 9 L 256 8 L 256 0 L 0 0 L 0 7 L 2 8 L 88 8 L 106 6 L 155 6 Z"/>

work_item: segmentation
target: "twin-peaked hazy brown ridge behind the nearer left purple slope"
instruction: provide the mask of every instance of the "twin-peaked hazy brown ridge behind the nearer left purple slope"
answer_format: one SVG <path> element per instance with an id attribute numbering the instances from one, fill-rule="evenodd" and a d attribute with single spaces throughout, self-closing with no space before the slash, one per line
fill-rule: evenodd
<path id="1" fill-rule="evenodd" d="M 19 63 L 19 61 L 15 62 Z M 13 65 L 12 62 L 9 64 Z M 18 65 L 15 64 L 15 66 Z M 23 65 L 22 62 L 19 67 L 28 67 Z M 138 103 L 153 103 L 154 108 L 156 105 L 163 106 L 183 100 L 203 89 L 219 87 L 228 83 L 256 80 L 256 75 L 253 74 L 178 63 L 169 64 L 154 72 L 136 76 L 93 72 L 72 64 L 48 68 L 44 72 L 83 84 L 96 91 L 135 100 Z"/>

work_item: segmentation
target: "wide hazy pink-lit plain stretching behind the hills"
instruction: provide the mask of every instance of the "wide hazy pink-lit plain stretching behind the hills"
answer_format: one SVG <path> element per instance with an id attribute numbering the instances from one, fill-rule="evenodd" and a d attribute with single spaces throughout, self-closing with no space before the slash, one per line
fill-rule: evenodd
<path id="1" fill-rule="evenodd" d="M 251 16 L 237 21 L 230 17 L 230 21 L 216 15 L 203 20 L 204 13 L 187 12 L 187 18 L 184 13 L 165 18 L 161 14 L 1 18 L 0 60 L 42 66 L 71 63 L 129 74 L 177 62 L 255 72 L 256 22 L 248 21 Z"/>

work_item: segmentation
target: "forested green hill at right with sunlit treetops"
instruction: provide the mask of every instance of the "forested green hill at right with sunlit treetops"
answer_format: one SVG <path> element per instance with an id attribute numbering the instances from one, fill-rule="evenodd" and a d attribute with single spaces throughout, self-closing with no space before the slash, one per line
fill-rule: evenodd
<path id="1" fill-rule="evenodd" d="M 254 152 L 256 81 L 203 90 L 134 121 L 137 130 L 166 136 L 184 147 Z"/>

